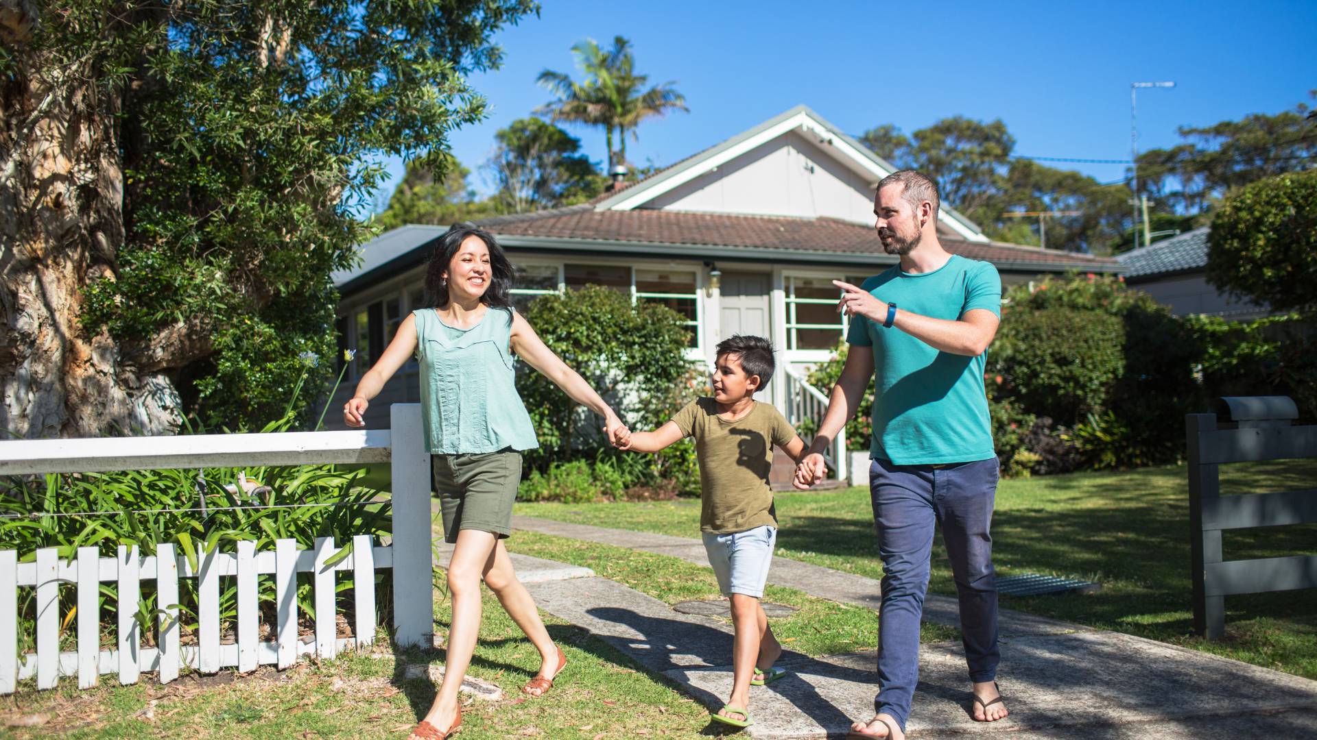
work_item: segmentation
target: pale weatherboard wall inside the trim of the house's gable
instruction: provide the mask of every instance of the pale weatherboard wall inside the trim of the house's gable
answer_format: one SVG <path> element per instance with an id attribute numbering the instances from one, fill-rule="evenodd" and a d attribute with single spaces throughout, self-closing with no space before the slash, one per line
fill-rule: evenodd
<path id="1" fill-rule="evenodd" d="M 773 138 L 647 203 L 645 208 L 873 220 L 872 175 L 843 166 L 797 130 Z"/>

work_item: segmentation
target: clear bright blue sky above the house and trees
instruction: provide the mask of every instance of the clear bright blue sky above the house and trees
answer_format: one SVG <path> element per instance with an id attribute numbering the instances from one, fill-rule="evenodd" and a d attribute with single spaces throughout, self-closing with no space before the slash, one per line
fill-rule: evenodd
<path id="1" fill-rule="evenodd" d="M 453 153 L 481 176 L 494 132 L 549 100 L 544 68 L 579 78 L 581 38 L 632 40 L 651 82 L 672 80 L 690 113 L 641 124 L 632 162 L 669 165 L 803 103 L 860 134 L 910 133 L 942 117 L 1002 119 L 1017 154 L 1129 159 L 1130 83 L 1143 90 L 1139 149 L 1177 144 L 1176 126 L 1275 113 L 1317 88 L 1317 3 L 814 3 L 545 0 L 497 37 L 503 67 L 473 76 L 489 119 L 454 132 Z M 602 132 L 566 126 L 597 161 Z M 387 200 L 402 176 L 389 161 Z M 1102 182 L 1123 165 L 1058 165 Z"/>

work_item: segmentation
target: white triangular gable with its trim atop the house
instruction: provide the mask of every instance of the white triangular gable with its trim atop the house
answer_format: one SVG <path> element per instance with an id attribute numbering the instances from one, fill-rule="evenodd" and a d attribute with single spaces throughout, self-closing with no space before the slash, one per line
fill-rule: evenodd
<path id="1" fill-rule="evenodd" d="M 605 199 L 598 208 L 871 224 L 874 187 L 892 171 L 892 165 L 801 105 Z M 975 224 L 948 208 L 939 212 L 938 221 L 939 233 L 988 241 Z"/>

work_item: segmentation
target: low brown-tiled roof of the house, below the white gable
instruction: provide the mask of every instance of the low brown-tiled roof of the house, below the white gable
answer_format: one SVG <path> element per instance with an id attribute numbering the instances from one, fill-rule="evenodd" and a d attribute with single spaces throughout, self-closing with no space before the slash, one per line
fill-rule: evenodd
<path id="1" fill-rule="evenodd" d="M 598 211 L 589 204 L 497 216 L 477 221 L 510 248 L 557 249 L 607 254 L 644 254 L 687 259 L 765 259 L 776 262 L 846 262 L 892 265 L 871 226 L 838 219 L 739 216 L 686 211 Z M 408 225 L 362 246 L 361 267 L 335 273 L 335 284 L 358 287 L 419 265 L 443 226 Z M 1117 273 L 1109 257 L 1001 242 L 939 237 L 954 254 L 992 262 L 1004 270 Z"/>

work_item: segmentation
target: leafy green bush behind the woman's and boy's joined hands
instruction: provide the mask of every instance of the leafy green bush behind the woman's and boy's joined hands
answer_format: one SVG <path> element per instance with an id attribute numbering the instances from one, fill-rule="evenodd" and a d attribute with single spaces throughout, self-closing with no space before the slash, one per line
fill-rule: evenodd
<path id="1" fill-rule="evenodd" d="M 619 408 L 636 428 L 655 427 L 676 411 L 673 388 L 687 388 L 690 362 L 685 359 L 685 317 L 658 303 L 639 302 L 627 294 L 586 286 L 547 294 L 531 302 L 525 319 L 558 357 L 579 373 L 599 395 Z M 531 412 L 540 438 L 541 458 L 566 458 L 573 448 L 607 446 L 598 420 L 585 420 L 576 402 L 552 381 L 523 370 L 518 390 Z"/>

